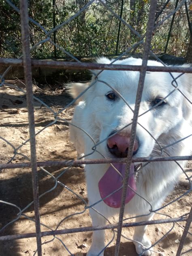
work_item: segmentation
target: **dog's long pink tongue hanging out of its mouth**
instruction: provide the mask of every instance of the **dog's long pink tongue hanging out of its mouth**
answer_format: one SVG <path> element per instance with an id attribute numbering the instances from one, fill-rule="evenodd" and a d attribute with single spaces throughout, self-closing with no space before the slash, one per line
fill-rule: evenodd
<path id="1" fill-rule="evenodd" d="M 126 164 L 115 163 L 113 164 L 113 166 L 115 166 L 115 168 L 119 171 L 119 173 L 122 174 L 123 177 L 125 176 Z M 132 189 L 136 190 L 136 182 L 134 179 L 134 164 L 131 164 L 129 176 L 130 177 L 128 185 Z M 115 171 L 112 166 L 110 166 L 98 183 L 101 198 L 105 198 L 113 191 L 121 188 L 122 185 L 122 177 L 117 173 L 117 171 Z M 125 203 L 128 203 L 133 198 L 134 194 L 135 193 L 128 187 Z M 121 197 L 122 188 L 117 192 L 113 193 L 111 196 L 103 199 L 103 201 L 106 203 L 106 205 L 109 205 L 110 207 L 119 208 L 121 206 Z"/>

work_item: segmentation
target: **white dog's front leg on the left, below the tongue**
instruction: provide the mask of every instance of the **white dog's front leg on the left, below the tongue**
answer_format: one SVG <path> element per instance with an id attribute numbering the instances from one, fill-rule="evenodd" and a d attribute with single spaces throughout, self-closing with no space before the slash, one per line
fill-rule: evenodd
<path id="1" fill-rule="evenodd" d="M 105 218 L 103 218 L 99 213 L 90 209 L 90 215 L 92 218 L 93 226 L 103 226 L 106 224 Z M 87 256 L 103 256 L 104 252 L 101 252 L 105 247 L 105 230 L 93 231 L 92 245 L 90 250 L 87 252 Z M 101 253 L 100 253 L 101 252 Z"/>

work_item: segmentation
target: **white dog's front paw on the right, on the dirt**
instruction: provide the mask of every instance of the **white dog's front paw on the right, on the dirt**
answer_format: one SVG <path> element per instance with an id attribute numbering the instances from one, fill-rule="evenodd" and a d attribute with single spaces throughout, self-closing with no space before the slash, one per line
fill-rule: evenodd
<path id="1" fill-rule="evenodd" d="M 143 237 L 134 237 L 134 240 L 139 242 L 139 243 L 133 242 L 135 245 L 137 254 L 147 255 L 147 256 L 152 255 L 151 251 L 143 250 L 151 247 L 151 241 L 148 239 L 146 235 L 144 235 Z"/>

